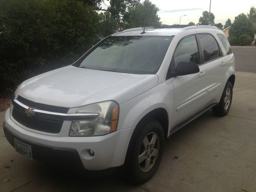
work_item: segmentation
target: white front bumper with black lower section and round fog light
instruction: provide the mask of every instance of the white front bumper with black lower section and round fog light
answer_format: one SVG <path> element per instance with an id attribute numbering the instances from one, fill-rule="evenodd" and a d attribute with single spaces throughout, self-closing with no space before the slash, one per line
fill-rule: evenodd
<path id="1" fill-rule="evenodd" d="M 33 159 L 63 164 L 67 168 L 103 170 L 121 166 L 135 127 L 104 136 L 69 137 L 30 130 L 18 123 L 6 111 L 4 131 L 9 143 L 14 138 L 31 145 Z M 94 151 L 94 156 L 89 154 Z"/>

